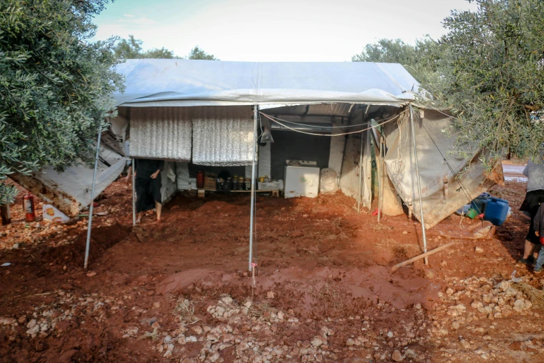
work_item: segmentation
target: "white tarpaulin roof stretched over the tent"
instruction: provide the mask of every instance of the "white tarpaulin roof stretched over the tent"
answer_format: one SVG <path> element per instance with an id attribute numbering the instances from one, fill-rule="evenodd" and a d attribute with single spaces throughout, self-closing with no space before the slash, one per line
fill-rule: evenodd
<path id="1" fill-rule="evenodd" d="M 253 63 L 129 59 L 117 106 L 347 102 L 405 104 L 419 83 L 397 63 Z"/>

